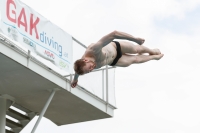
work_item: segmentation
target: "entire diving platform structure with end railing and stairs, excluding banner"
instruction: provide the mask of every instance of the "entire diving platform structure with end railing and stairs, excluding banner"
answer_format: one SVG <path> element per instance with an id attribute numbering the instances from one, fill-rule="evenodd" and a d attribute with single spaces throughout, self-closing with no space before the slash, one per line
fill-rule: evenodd
<path id="1" fill-rule="evenodd" d="M 105 67 L 81 76 L 71 88 L 73 74 L 61 74 L 0 33 L 0 133 L 19 133 L 36 115 L 31 133 L 42 117 L 58 126 L 113 117 L 114 70 Z"/>

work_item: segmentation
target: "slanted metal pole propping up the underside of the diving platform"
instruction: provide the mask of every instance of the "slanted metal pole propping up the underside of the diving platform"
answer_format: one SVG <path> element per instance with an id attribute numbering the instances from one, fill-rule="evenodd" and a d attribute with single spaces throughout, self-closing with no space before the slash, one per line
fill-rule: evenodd
<path id="1" fill-rule="evenodd" d="M 34 133 L 34 132 L 35 132 L 35 130 L 36 130 L 38 124 L 40 123 L 40 120 L 41 120 L 42 117 L 44 116 L 44 113 L 46 112 L 46 110 L 47 110 L 47 108 L 48 108 L 48 106 L 49 106 L 51 100 L 53 99 L 53 96 L 54 96 L 54 94 L 55 94 L 55 92 L 56 92 L 57 90 L 58 90 L 58 89 L 53 89 L 53 91 L 51 92 L 51 95 L 49 96 L 48 101 L 46 102 L 44 108 L 42 109 L 42 112 L 40 113 L 40 116 L 39 116 L 39 118 L 38 118 L 38 120 L 37 120 L 35 126 L 33 127 L 33 130 L 31 131 L 31 133 Z"/>

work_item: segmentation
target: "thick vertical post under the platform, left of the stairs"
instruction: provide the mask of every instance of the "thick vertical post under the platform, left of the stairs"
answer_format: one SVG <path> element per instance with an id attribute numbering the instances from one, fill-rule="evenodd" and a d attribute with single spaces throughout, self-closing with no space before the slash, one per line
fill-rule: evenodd
<path id="1" fill-rule="evenodd" d="M 5 133 L 6 126 L 6 99 L 0 98 L 0 133 Z"/>

